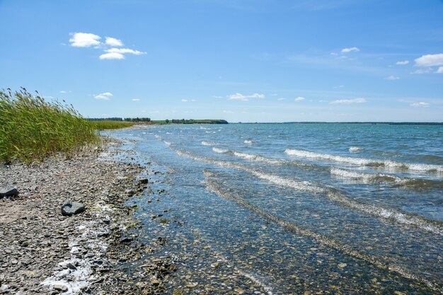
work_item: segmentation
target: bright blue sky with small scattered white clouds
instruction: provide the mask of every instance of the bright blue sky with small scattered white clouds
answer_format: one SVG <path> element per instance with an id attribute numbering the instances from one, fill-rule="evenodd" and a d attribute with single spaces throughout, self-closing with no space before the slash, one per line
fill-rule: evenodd
<path id="1" fill-rule="evenodd" d="M 441 0 L 0 0 L 0 40 L 86 117 L 443 121 Z"/>

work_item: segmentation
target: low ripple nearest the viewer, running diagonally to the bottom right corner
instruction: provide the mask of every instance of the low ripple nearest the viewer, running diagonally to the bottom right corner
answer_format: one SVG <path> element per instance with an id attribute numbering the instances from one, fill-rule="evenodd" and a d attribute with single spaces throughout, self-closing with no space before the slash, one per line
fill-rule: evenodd
<path id="1" fill-rule="evenodd" d="M 380 259 L 374 255 L 364 253 L 360 250 L 356 250 L 350 247 L 349 245 L 336 241 L 334 238 L 323 235 L 321 233 L 317 233 L 315 231 L 311 231 L 310 229 L 306 229 L 302 226 L 298 226 L 297 224 L 289 222 L 286 219 L 283 219 L 282 217 L 276 214 L 272 214 L 270 212 L 265 211 L 264 209 L 256 207 L 255 205 L 247 202 L 245 199 L 241 197 L 231 195 L 227 193 L 226 190 L 222 190 L 221 188 L 219 188 L 217 183 L 212 181 L 212 177 L 214 176 L 213 173 L 209 171 L 203 171 L 203 173 L 205 174 L 206 178 L 205 183 L 207 185 L 207 190 L 214 192 L 220 197 L 231 199 L 232 201 L 237 202 L 238 204 L 241 204 L 242 206 L 250 209 L 256 214 L 262 216 L 263 218 L 275 222 L 275 224 L 283 226 L 285 229 L 293 233 L 303 236 L 309 236 L 318 243 L 321 243 L 323 245 L 328 245 L 330 248 L 339 250 L 340 252 L 350 255 L 359 260 L 364 260 L 365 262 L 375 265 L 376 267 L 379 267 L 382 270 L 389 270 L 391 272 L 396 272 L 397 274 L 400 274 L 402 277 L 405 277 L 406 279 L 413 279 L 415 281 L 421 282 L 422 284 L 425 284 L 427 287 L 430 287 L 434 291 L 441 291 L 438 284 L 436 284 L 435 282 L 431 282 L 430 280 L 426 279 L 425 277 L 421 277 L 418 274 L 414 274 L 413 272 L 410 272 L 410 270 L 406 270 L 405 268 L 398 265 L 389 264 L 385 262 L 385 260 L 383 259 Z"/>

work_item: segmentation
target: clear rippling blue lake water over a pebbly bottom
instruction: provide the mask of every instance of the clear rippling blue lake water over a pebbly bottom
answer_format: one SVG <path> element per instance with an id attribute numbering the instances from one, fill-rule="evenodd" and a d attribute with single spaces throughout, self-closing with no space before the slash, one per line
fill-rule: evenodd
<path id="1" fill-rule="evenodd" d="M 134 202 L 146 243 L 163 236 L 159 255 L 180 261 L 170 294 L 189 282 L 202 294 L 443 292 L 442 126 L 156 125 L 112 135 L 164 172 L 150 177 L 166 191 Z"/>

